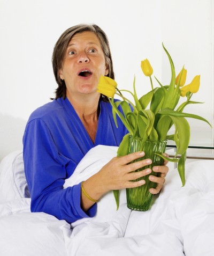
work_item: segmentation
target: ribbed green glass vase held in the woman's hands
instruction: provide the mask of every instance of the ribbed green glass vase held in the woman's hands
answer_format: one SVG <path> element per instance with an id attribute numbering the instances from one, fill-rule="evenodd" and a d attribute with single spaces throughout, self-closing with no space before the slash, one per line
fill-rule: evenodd
<path id="1" fill-rule="evenodd" d="M 133 162 L 137 162 L 139 160 L 147 159 L 147 158 L 150 158 L 152 160 L 152 163 L 150 165 L 142 167 L 141 169 L 138 169 L 135 172 L 138 172 L 147 168 L 150 168 L 152 170 L 153 166 L 163 165 L 163 162 L 164 162 L 163 158 L 156 155 L 156 153 L 162 155 L 165 152 L 166 142 L 167 142 L 166 140 L 165 141 L 147 140 L 143 144 L 142 138 L 139 138 L 139 137 L 133 138 L 130 135 L 129 142 L 128 142 L 129 153 L 133 153 L 137 151 L 145 152 L 144 157 L 136 159 Z M 149 175 L 159 176 L 160 173 L 152 171 Z M 144 179 L 146 181 L 146 184 L 140 187 L 126 189 L 127 207 L 129 209 L 136 210 L 136 211 L 149 210 L 150 204 L 152 201 L 152 196 L 153 196 L 153 194 L 149 192 L 149 189 L 156 188 L 157 186 L 157 183 L 149 180 L 149 175 L 133 180 L 133 181 L 138 181 L 138 180 Z"/>

